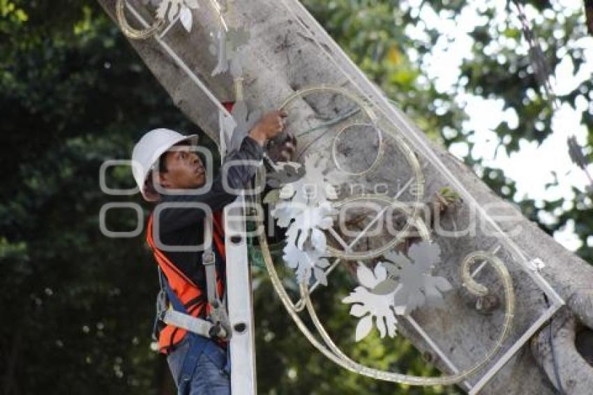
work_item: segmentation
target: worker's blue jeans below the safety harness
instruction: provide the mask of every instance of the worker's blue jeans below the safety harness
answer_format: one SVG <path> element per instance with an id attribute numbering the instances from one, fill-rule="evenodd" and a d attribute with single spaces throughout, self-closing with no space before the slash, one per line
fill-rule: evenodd
<path id="1" fill-rule="evenodd" d="M 179 389 L 179 375 L 181 366 L 188 352 L 189 336 L 185 336 L 181 343 L 167 355 L 167 363 L 171 369 L 175 384 Z M 227 355 L 223 348 L 213 341 L 209 341 L 207 349 L 197 359 L 197 365 L 189 383 L 189 393 L 179 395 L 230 395 L 231 383 L 228 373 L 225 371 Z"/>

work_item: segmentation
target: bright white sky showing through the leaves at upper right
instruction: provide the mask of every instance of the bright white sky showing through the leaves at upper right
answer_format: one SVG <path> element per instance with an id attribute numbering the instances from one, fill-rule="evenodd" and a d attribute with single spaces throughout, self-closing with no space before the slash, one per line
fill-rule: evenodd
<path id="1" fill-rule="evenodd" d="M 408 1 L 412 8 L 419 6 L 421 0 Z M 441 38 L 437 41 L 437 45 L 433 47 L 430 54 L 421 59 L 426 77 L 435 82 L 435 86 L 439 91 L 453 91 L 453 84 L 457 82 L 460 77 L 460 66 L 463 59 L 472 57 L 473 40 L 469 33 L 478 24 L 485 24 L 484 17 L 481 17 L 478 12 L 485 8 L 484 1 L 471 0 L 468 1 L 468 6 L 463 9 L 456 20 L 448 18 L 447 13 L 437 15 L 432 8 L 423 7 L 419 10 L 419 16 L 426 26 L 433 27 L 440 31 Z M 504 9 L 505 0 L 494 0 L 496 7 Z M 556 10 L 562 10 L 564 15 L 568 16 L 571 13 L 581 13 L 583 3 L 576 0 L 557 0 L 553 1 L 553 6 Z M 515 10 L 515 8 L 511 8 Z M 541 20 L 539 15 L 533 8 L 526 8 L 527 18 L 537 22 Z M 504 21 L 504 13 L 497 13 L 497 20 L 490 21 L 490 26 L 496 29 L 497 24 Z M 545 15 L 544 15 L 545 16 Z M 562 15 L 560 15 L 562 17 Z M 517 18 L 513 18 L 516 22 L 516 27 L 520 27 Z M 584 20 L 583 20 L 584 23 Z M 426 39 L 422 27 L 410 27 L 407 34 L 412 38 Z M 576 87 L 578 84 L 593 75 L 593 37 L 583 38 L 578 41 L 569 43 L 573 47 L 582 47 L 585 52 L 585 64 L 581 66 L 577 75 L 574 75 L 574 67 L 572 61 L 564 48 L 559 50 L 557 54 L 562 61 L 557 66 L 553 73 L 555 77 L 552 80 L 553 89 L 557 95 L 566 94 Z M 495 53 L 500 47 L 506 46 L 515 50 L 518 54 L 527 54 L 527 47 L 516 47 L 514 40 L 503 40 L 499 43 L 493 43 L 484 49 L 486 53 L 491 51 Z M 412 61 L 414 57 L 417 59 L 417 54 L 412 50 L 408 54 Z M 535 94 L 535 92 L 534 92 Z M 466 130 L 474 130 L 474 135 L 469 137 L 471 142 L 474 142 L 472 149 L 472 157 L 482 158 L 483 165 L 488 167 L 500 168 L 504 171 L 506 177 L 516 181 L 517 194 L 516 200 L 523 198 L 531 198 L 536 202 L 543 202 L 544 200 L 555 200 L 558 198 L 566 198 L 572 200 L 574 198 L 572 187 L 578 188 L 580 191 L 585 191 L 589 184 L 585 172 L 580 170 L 571 163 L 568 154 L 568 147 L 566 139 L 570 135 L 576 135 L 579 144 L 585 144 L 587 141 L 587 128 L 580 124 L 580 114 L 589 105 L 588 100 L 584 97 L 576 100 L 576 110 L 570 105 L 565 104 L 560 107 L 553 117 L 553 133 L 543 141 L 538 147 L 536 142 L 527 142 L 522 140 L 520 142 L 520 149 L 507 155 L 504 147 L 499 147 L 498 137 L 493 129 L 500 123 L 501 119 L 509 123 L 509 127 L 513 128 L 518 123 L 517 114 L 514 110 L 502 110 L 504 102 L 502 99 L 488 100 L 486 98 L 473 96 L 467 93 L 461 93 L 456 96 L 459 104 L 465 105 L 465 111 L 469 120 L 464 124 Z M 593 109 L 592 109 L 593 110 Z M 463 158 L 468 154 L 468 147 L 465 143 L 452 144 L 449 148 L 452 154 Z M 593 165 L 590 165 L 587 170 L 593 174 Z M 554 181 L 553 172 L 558 174 L 558 186 L 546 189 L 546 184 Z M 569 204 L 569 202 L 566 202 Z M 567 205 L 564 209 L 570 209 Z M 558 213 L 557 213 L 558 214 Z M 541 221 L 551 223 L 554 221 L 554 216 L 542 215 Z M 555 239 L 563 246 L 571 251 L 575 251 L 580 247 L 581 242 L 573 233 L 573 223 L 559 232 L 554 234 Z M 593 237 L 587 241 L 593 245 Z"/>

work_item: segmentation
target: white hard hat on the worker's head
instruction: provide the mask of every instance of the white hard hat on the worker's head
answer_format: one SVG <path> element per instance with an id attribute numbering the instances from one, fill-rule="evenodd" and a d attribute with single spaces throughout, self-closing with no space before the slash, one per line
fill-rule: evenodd
<path id="1" fill-rule="evenodd" d="M 136 143 L 132 150 L 132 173 L 144 199 L 149 200 L 144 191 L 144 183 L 153 165 L 167 149 L 184 140 L 190 140 L 195 145 L 197 135 L 182 135 L 170 129 L 160 128 L 149 131 Z"/>

